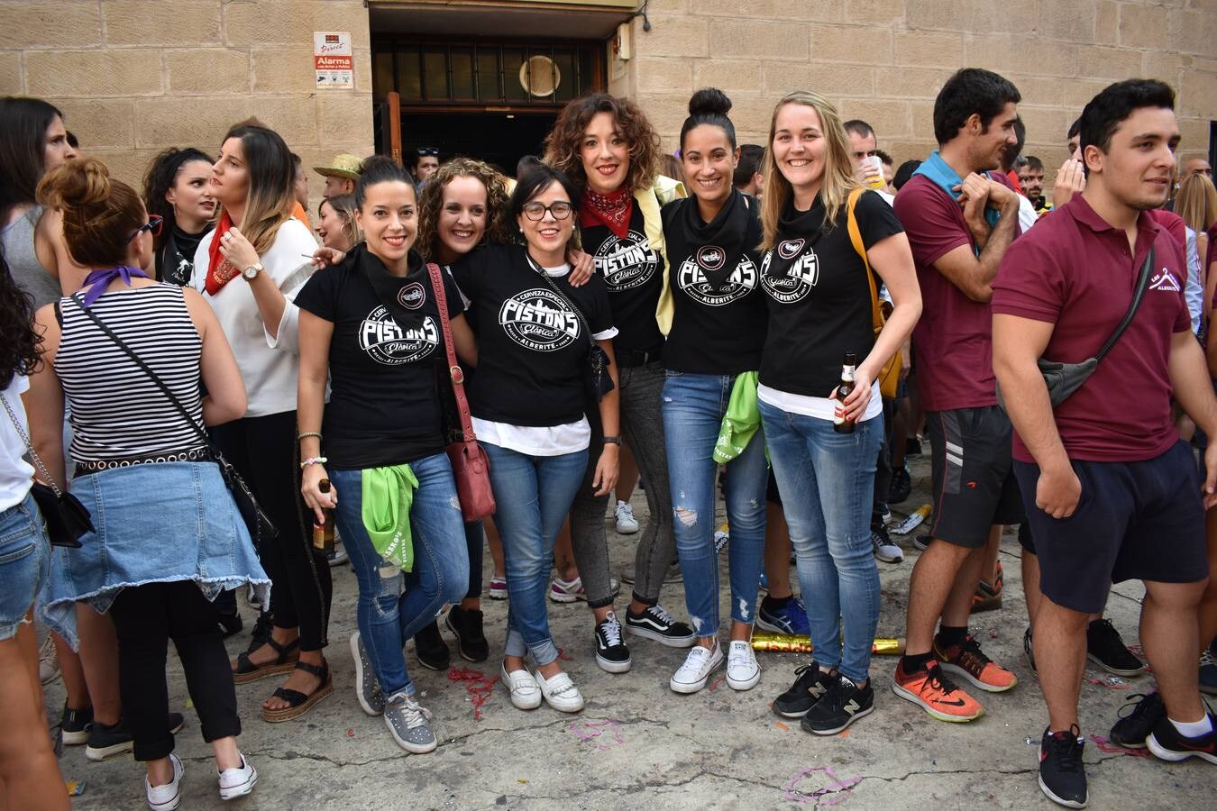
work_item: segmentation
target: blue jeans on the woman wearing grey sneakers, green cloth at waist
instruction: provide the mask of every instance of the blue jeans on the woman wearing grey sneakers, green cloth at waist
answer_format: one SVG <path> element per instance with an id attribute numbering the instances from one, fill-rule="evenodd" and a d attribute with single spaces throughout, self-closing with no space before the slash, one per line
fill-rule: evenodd
<path id="1" fill-rule="evenodd" d="M 469 588 L 469 552 L 452 464 L 443 454 L 410 462 L 419 479 L 410 506 L 414 571 L 405 575 L 372 546 L 363 518 L 363 471 L 330 471 L 338 492 L 335 522 L 359 584 L 357 624 L 385 695 L 414 685 L 405 669 L 405 641 L 434 621 L 445 603 Z"/>

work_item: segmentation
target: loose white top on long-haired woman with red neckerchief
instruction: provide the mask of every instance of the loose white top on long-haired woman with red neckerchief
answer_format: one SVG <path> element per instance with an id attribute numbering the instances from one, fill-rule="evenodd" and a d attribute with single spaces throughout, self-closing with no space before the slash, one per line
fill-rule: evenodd
<path id="1" fill-rule="evenodd" d="M 316 240 L 308 226 L 292 218 L 279 226 L 275 241 L 259 259 L 263 272 L 269 274 L 287 298 L 277 337 L 262 323 L 258 303 L 242 276 L 230 280 L 219 293 L 207 293 L 208 252 L 215 231 L 204 236 L 195 250 L 195 289 L 207 299 L 224 336 L 232 347 L 241 370 L 249 407 L 246 417 L 264 417 L 296 410 L 296 378 L 299 373 L 299 309 L 293 303 L 296 293 L 313 275 L 310 257 Z"/>

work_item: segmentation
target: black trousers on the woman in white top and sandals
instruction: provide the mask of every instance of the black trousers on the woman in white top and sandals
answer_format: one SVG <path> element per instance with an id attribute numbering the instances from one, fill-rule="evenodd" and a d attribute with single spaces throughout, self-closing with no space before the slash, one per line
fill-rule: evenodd
<path id="1" fill-rule="evenodd" d="M 215 426 L 212 438 L 279 529 L 279 537 L 254 539 L 270 576 L 275 627 L 299 627 L 301 651 L 320 651 L 329 643 L 333 582 L 325 556 L 313 547 L 313 513 L 301 497 L 296 412 Z"/>

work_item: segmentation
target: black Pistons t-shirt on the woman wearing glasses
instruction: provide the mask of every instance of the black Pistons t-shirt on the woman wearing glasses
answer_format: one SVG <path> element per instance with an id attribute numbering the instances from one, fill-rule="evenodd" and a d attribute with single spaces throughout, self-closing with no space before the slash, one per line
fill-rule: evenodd
<path id="1" fill-rule="evenodd" d="M 560 297 L 523 246 L 476 248 L 452 271 L 470 299 L 478 336 L 477 374 L 469 393 L 473 416 L 531 427 L 579 421 L 591 348 L 584 320 L 593 334 L 613 325 L 604 281 L 593 276 L 574 288 L 566 276 L 551 277 Z"/>

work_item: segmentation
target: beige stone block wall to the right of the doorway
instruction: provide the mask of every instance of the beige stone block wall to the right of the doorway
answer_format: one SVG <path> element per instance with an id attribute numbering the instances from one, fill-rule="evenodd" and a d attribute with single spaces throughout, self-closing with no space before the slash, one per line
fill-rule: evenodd
<path id="1" fill-rule="evenodd" d="M 776 100 L 806 88 L 869 122 L 897 164 L 922 158 L 933 148 L 933 98 L 965 66 L 1017 85 L 1025 153 L 1044 160 L 1049 179 L 1067 157 L 1070 123 L 1112 80 L 1176 89 L 1180 154 L 1207 153 L 1217 118 L 1217 0 L 651 0 L 649 11 L 651 30 L 633 21 L 632 58 L 608 74 L 669 151 L 699 88 L 724 90 L 741 142 L 756 143 Z"/>

